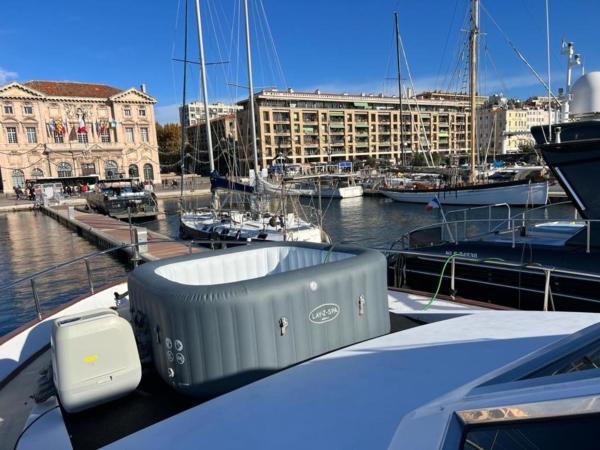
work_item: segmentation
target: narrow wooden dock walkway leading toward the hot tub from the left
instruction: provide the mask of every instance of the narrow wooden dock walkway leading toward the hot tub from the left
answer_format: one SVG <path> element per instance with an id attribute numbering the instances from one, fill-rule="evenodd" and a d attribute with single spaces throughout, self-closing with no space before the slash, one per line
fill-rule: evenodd
<path id="1" fill-rule="evenodd" d="M 42 207 L 44 214 L 56 219 L 66 227 L 77 231 L 101 249 L 117 247 L 123 244 L 131 244 L 131 232 L 127 222 L 114 219 L 97 213 L 88 213 L 74 209 L 58 209 L 55 207 Z M 143 227 L 136 227 L 146 230 Z M 197 253 L 203 249 L 190 247 L 183 242 L 164 242 L 171 238 L 155 231 L 146 230 L 147 245 L 140 245 L 140 258 L 143 261 L 155 261 L 157 259 L 181 256 Z M 129 256 L 133 256 L 133 249 L 123 249 Z"/>

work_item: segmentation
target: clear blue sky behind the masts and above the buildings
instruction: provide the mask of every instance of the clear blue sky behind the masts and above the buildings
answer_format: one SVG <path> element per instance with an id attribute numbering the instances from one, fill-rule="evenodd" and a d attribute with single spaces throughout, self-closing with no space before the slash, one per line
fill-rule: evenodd
<path id="1" fill-rule="evenodd" d="M 197 59 L 193 0 L 189 58 Z M 416 90 L 460 89 L 459 43 L 468 0 L 249 0 L 255 86 L 395 93 L 393 12 Z M 235 101 L 246 85 L 241 0 L 202 0 L 211 101 Z M 0 83 L 50 79 L 144 82 L 160 121 L 177 120 L 181 103 L 184 0 L 3 2 Z M 546 77 L 544 0 L 483 1 L 480 89 L 527 97 L 543 88 L 490 19 Z M 487 12 L 486 12 L 487 11 Z M 489 13 L 489 15 L 488 15 Z M 586 71 L 600 65 L 600 2 L 550 0 L 553 88 L 564 82 L 562 38 L 575 41 Z M 406 70 L 403 74 L 406 78 Z M 408 80 L 405 81 L 408 84 Z M 188 98 L 198 98 L 198 68 Z"/>

